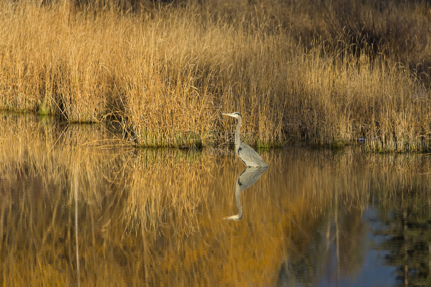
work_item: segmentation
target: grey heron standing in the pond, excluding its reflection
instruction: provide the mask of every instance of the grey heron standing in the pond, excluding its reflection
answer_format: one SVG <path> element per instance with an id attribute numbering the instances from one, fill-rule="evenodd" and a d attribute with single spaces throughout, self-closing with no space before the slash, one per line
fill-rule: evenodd
<path id="1" fill-rule="evenodd" d="M 241 142 L 240 129 L 243 124 L 243 117 L 240 113 L 226 113 L 225 116 L 230 116 L 238 119 L 238 125 L 235 129 L 235 153 L 247 167 L 268 167 L 265 161 L 252 149 L 249 145 Z"/>

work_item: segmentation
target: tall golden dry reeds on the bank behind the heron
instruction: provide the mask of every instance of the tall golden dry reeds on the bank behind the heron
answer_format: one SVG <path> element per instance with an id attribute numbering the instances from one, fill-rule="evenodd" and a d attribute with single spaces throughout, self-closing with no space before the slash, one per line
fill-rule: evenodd
<path id="1" fill-rule="evenodd" d="M 121 119 L 138 145 L 431 146 L 431 6 L 4 1 L 0 108 Z M 191 135 L 191 136 L 189 136 Z"/>

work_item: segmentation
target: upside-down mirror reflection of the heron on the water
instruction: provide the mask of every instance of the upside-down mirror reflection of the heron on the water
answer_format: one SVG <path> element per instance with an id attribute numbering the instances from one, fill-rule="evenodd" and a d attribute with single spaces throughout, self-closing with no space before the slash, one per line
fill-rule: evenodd
<path id="1" fill-rule="evenodd" d="M 223 217 L 224 219 L 239 220 L 243 217 L 243 205 L 241 204 L 241 192 L 251 187 L 268 167 L 246 167 L 235 183 L 235 202 L 238 207 L 238 214 Z"/>

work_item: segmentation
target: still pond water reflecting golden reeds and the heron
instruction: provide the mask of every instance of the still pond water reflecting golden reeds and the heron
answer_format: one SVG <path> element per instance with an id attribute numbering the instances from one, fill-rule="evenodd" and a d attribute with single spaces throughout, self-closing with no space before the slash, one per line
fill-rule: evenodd
<path id="1" fill-rule="evenodd" d="M 1 116 L 2 285 L 431 283 L 426 155 L 287 148 L 244 171 L 114 137 Z"/>

